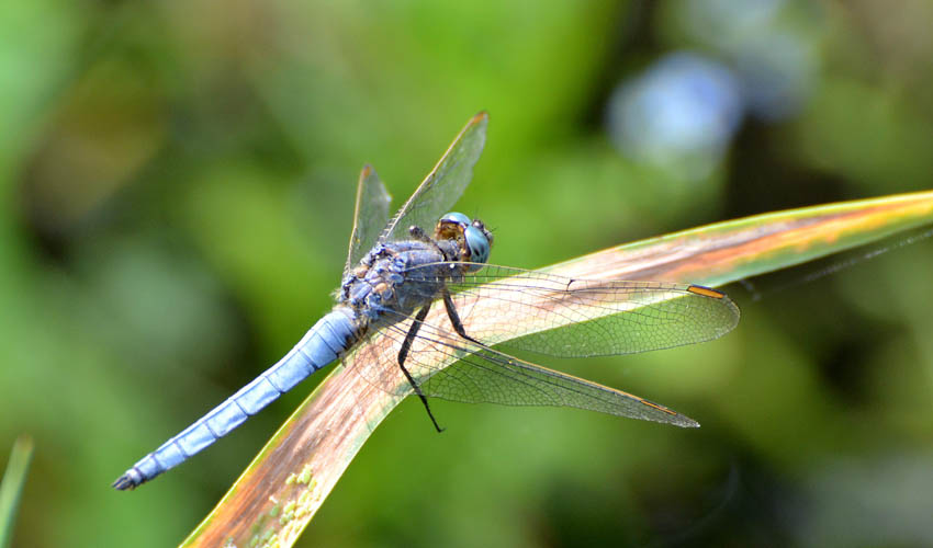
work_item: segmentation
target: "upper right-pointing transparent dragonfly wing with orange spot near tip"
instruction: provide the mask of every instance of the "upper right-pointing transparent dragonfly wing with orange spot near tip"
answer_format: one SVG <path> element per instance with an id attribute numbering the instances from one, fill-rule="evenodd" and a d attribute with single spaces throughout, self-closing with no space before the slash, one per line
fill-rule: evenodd
<path id="1" fill-rule="evenodd" d="M 427 279 L 431 270 L 414 269 L 406 278 Z M 562 357 L 709 341 L 731 331 L 740 316 L 724 294 L 687 284 L 580 279 L 487 265 L 446 285 L 472 338 Z"/>

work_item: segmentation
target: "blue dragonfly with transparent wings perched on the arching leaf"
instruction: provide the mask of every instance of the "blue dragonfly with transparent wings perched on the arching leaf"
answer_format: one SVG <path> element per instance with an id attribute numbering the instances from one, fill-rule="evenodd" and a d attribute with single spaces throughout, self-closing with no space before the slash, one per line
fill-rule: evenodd
<path id="1" fill-rule="evenodd" d="M 134 489 L 178 466 L 338 361 L 385 392 L 416 395 L 438 432 L 443 429 L 428 398 L 572 407 L 699 426 L 662 404 L 506 352 L 580 357 L 668 349 L 723 335 L 740 312 L 726 294 L 700 285 L 581 279 L 488 264 L 494 238 L 483 221 L 443 213 L 472 179 L 487 123 L 484 112 L 470 119 L 391 219 L 385 186 L 366 167 L 333 310 L 278 363 L 113 487 Z M 393 367 L 381 359 L 385 352 Z"/>

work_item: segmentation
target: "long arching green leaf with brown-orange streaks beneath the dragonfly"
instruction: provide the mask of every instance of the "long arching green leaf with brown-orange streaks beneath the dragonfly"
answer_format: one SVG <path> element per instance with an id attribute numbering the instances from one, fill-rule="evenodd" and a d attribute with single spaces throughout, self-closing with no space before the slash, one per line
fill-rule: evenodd
<path id="1" fill-rule="evenodd" d="M 717 286 L 931 221 L 933 192 L 902 194 L 708 225 L 542 271 L 591 279 Z M 382 356 L 382 366 L 395 367 L 394 353 L 373 354 Z M 292 546 L 362 444 L 401 401 L 342 366 L 336 367 L 182 546 Z"/>

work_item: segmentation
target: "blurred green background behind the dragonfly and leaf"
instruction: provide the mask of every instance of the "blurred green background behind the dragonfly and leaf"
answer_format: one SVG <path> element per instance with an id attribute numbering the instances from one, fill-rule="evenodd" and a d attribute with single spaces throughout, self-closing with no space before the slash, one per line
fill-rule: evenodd
<path id="1" fill-rule="evenodd" d="M 363 163 L 401 204 L 487 110 L 458 208 L 524 267 L 930 189 L 931 21 L 924 0 L 0 3 L 0 461 L 36 446 L 14 545 L 200 522 L 321 377 L 110 483 L 329 309 Z M 743 319 L 713 343 L 546 361 L 697 431 L 441 401 L 437 435 L 406 401 L 300 546 L 933 544 L 933 246 L 891 247 L 727 288 Z"/>

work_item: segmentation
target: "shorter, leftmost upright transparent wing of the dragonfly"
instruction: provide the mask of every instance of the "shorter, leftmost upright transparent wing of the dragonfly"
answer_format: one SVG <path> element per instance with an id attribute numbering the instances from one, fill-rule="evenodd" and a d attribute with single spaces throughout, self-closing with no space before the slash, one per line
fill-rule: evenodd
<path id="1" fill-rule="evenodd" d="M 357 265 L 360 259 L 375 244 L 380 230 L 389 222 L 389 203 L 392 198 L 372 165 L 360 172 L 357 184 L 357 206 L 353 208 L 353 231 L 344 274 Z"/>

